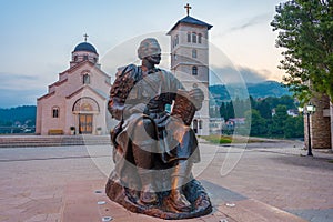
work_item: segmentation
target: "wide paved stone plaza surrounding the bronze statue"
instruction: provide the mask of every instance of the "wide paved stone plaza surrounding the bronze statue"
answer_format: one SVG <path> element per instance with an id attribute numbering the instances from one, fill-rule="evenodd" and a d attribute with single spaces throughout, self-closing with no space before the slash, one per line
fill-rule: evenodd
<path id="1" fill-rule="evenodd" d="M 200 143 L 193 169 L 213 212 L 182 221 L 333 221 L 333 154 L 299 141 Z M 0 149 L 0 221 L 163 221 L 104 194 L 111 145 Z"/>

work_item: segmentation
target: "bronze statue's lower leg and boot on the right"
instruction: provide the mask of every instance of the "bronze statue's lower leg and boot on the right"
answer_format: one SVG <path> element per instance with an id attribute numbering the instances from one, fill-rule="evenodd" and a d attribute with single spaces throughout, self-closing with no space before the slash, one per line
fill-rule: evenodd
<path id="1" fill-rule="evenodd" d="M 171 179 L 171 205 L 179 212 L 189 212 L 192 206 L 183 193 L 183 185 L 189 182 L 191 164 L 186 162 L 178 163 Z"/>

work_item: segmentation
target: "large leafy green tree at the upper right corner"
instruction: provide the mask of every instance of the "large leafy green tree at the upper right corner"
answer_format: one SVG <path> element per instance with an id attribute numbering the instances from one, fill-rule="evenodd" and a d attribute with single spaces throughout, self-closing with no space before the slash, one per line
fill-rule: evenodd
<path id="1" fill-rule="evenodd" d="M 286 49 L 280 68 L 286 71 L 284 81 L 291 91 L 302 103 L 310 100 L 312 90 L 327 94 L 332 102 L 333 1 L 280 3 L 271 26 L 279 30 L 276 47 Z"/>

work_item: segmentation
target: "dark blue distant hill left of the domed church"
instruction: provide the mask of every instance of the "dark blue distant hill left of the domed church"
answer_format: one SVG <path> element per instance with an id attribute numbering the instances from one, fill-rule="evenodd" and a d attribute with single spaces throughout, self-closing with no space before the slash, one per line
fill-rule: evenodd
<path id="1" fill-rule="evenodd" d="M 23 105 L 9 109 L 0 109 L 0 125 L 9 125 L 20 122 L 24 124 L 36 122 L 36 105 Z"/>

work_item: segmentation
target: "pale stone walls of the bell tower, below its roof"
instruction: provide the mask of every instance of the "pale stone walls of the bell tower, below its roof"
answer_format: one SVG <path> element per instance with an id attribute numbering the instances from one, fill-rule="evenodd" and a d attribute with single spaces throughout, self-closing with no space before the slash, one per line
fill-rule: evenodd
<path id="1" fill-rule="evenodd" d="M 188 42 L 188 33 L 196 33 L 196 43 Z M 202 34 L 199 43 L 198 34 Z M 176 37 L 178 36 L 178 37 Z M 171 37 L 171 71 L 183 83 L 186 90 L 191 90 L 195 84 L 204 92 L 202 109 L 199 110 L 194 119 L 202 120 L 202 129 L 198 129 L 198 134 L 208 135 L 210 133 L 209 117 L 209 42 L 208 28 L 195 24 L 180 23 L 170 32 Z M 174 40 L 179 38 L 176 44 Z M 196 50 L 196 57 L 193 58 L 192 50 Z M 193 65 L 198 67 L 198 75 L 192 75 Z M 192 128 L 195 128 L 192 123 Z"/>

